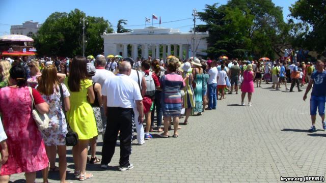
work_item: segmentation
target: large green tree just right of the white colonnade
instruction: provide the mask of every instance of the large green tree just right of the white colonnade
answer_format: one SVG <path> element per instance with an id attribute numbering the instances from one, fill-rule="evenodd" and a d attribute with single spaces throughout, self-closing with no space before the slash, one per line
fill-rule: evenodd
<path id="1" fill-rule="evenodd" d="M 230 0 L 226 5 L 206 5 L 199 17 L 209 31 L 209 56 L 256 58 L 274 57 L 285 44 L 287 34 L 282 8 L 271 0 Z"/>

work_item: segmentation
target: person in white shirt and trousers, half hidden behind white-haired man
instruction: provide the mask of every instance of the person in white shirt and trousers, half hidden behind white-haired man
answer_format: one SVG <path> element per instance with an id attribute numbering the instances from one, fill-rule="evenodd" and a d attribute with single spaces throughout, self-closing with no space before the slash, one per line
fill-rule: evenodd
<path id="1" fill-rule="evenodd" d="M 129 62 L 131 67 L 133 66 L 133 64 L 134 64 L 133 58 L 127 57 L 127 58 L 124 58 L 124 60 Z M 135 82 L 137 82 L 138 87 L 141 90 L 142 97 L 144 97 L 145 92 L 146 92 L 146 81 L 145 81 L 145 77 L 143 76 L 142 72 L 131 69 L 131 73 L 130 73 L 129 77 L 132 80 L 134 80 Z M 137 109 L 135 109 L 135 108 L 133 109 L 133 111 L 134 111 L 134 117 L 135 117 L 135 119 L 137 119 L 139 116 L 139 113 L 138 113 Z M 136 131 L 137 131 L 138 144 L 143 145 L 145 143 L 144 126 L 143 126 L 143 124 L 139 124 L 139 123 L 135 123 L 135 126 L 136 126 Z"/>

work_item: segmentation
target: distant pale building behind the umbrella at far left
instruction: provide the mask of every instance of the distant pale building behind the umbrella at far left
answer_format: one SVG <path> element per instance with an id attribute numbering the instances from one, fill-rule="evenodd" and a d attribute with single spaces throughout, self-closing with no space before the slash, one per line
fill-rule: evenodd
<path id="1" fill-rule="evenodd" d="M 33 20 L 25 21 L 22 25 L 11 25 L 10 34 L 24 35 L 32 38 L 33 34 L 36 34 L 41 26 L 42 24 L 33 22 Z"/>

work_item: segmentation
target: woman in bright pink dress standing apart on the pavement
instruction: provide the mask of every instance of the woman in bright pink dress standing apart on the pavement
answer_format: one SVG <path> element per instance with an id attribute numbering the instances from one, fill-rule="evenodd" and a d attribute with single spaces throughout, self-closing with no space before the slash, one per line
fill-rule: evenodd
<path id="1" fill-rule="evenodd" d="M 246 93 L 248 93 L 248 101 L 249 106 L 252 106 L 251 104 L 251 96 L 254 93 L 254 72 L 253 72 L 253 66 L 249 64 L 247 66 L 246 71 L 243 72 L 243 81 L 241 85 L 241 105 L 244 106 L 244 97 L 246 97 Z"/>

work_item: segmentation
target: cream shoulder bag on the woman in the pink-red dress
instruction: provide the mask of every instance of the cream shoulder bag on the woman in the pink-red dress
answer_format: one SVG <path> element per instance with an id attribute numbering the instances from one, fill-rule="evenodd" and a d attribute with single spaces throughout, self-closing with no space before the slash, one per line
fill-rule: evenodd
<path id="1" fill-rule="evenodd" d="M 30 90 L 30 95 L 31 95 L 31 99 L 32 99 L 32 116 L 36 122 L 38 129 L 40 131 L 43 131 L 49 127 L 50 119 L 47 116 L 47 114 L 41 114 L 41 113 L 39 113 L 39 111 L 36 110 L 34 97 L 33 97 L 33 90 L 30 86 L 29 86 L 29 90 Z"/>

